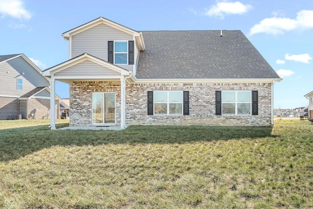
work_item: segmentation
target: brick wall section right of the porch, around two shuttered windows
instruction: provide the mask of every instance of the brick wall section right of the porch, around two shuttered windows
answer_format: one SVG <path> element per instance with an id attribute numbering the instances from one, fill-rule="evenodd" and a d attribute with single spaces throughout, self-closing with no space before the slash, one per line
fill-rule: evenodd
<path id="1" fill-rule="evenodd" d="M 258 115 L 217 116 L 215 91 L 259 91 Z M 148 91 L 189 91 L 189 116 L 148 116 Z M 126 125 L 271 125 L 271 84 L 130 84 L 126 88 Z"/>

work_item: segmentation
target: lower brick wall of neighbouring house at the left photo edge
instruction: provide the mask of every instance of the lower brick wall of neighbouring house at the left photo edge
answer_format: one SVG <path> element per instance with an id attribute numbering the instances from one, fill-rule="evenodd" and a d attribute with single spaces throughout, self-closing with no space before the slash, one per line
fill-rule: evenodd
<path id="1" fill-rule="evenodd" d="M 21 114 L 18 98 L 0 97 L 0 120 L 15 119 L 15 114 Z"/>

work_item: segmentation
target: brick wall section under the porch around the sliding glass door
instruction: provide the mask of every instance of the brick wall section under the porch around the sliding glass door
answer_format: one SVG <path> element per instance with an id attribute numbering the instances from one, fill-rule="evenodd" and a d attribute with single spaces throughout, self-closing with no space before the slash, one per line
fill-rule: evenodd
<path id="1" fill-rule="evenodd" d="M 115 125 L 121 123 L 120 81 L 74 81 L 69 87 L 69 126 L 92 126 L 92 93 L 115 93 Z"/>

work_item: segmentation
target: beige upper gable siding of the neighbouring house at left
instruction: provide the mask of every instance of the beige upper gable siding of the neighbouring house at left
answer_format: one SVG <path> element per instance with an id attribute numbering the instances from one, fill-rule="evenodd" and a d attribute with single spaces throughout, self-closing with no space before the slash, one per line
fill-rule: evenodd
<path id="1" fill-rule="evenodd" d="M 48 80 L 40 72 L 34 72 L 22 57 L 0 63 L 0 76 L 0 94 L 21 96 L 36 87 L 49 86 Z M 23 79 L 22 90 L 17 90 L 17 78 Z"/>

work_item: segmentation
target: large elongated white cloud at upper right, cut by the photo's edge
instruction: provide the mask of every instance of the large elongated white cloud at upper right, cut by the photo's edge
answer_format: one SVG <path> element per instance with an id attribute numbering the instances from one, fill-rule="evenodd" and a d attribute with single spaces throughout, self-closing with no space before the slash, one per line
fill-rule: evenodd
<path id="1" fill-rule="evenodd" d="M 290 18 L 266 18 L 250 28 L 250 35 L 268 33 L 273 35 L 284 34 L 290 30 L 313 29 L 313 10 L 301 10 L 295 19 Z"/>

